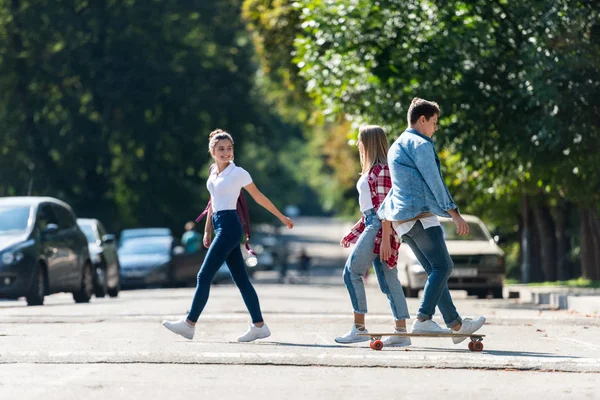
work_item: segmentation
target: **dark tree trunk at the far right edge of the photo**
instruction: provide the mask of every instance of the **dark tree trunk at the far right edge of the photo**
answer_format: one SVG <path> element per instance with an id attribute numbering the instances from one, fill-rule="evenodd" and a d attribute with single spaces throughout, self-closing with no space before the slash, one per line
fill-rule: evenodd
<path id="1" fill-rule="evenodd" d="M 600 218 L 598 212 L 581 206 L 579 209 L 581 236 L 581 272 L 584 278 L 600 280 Z"/>

